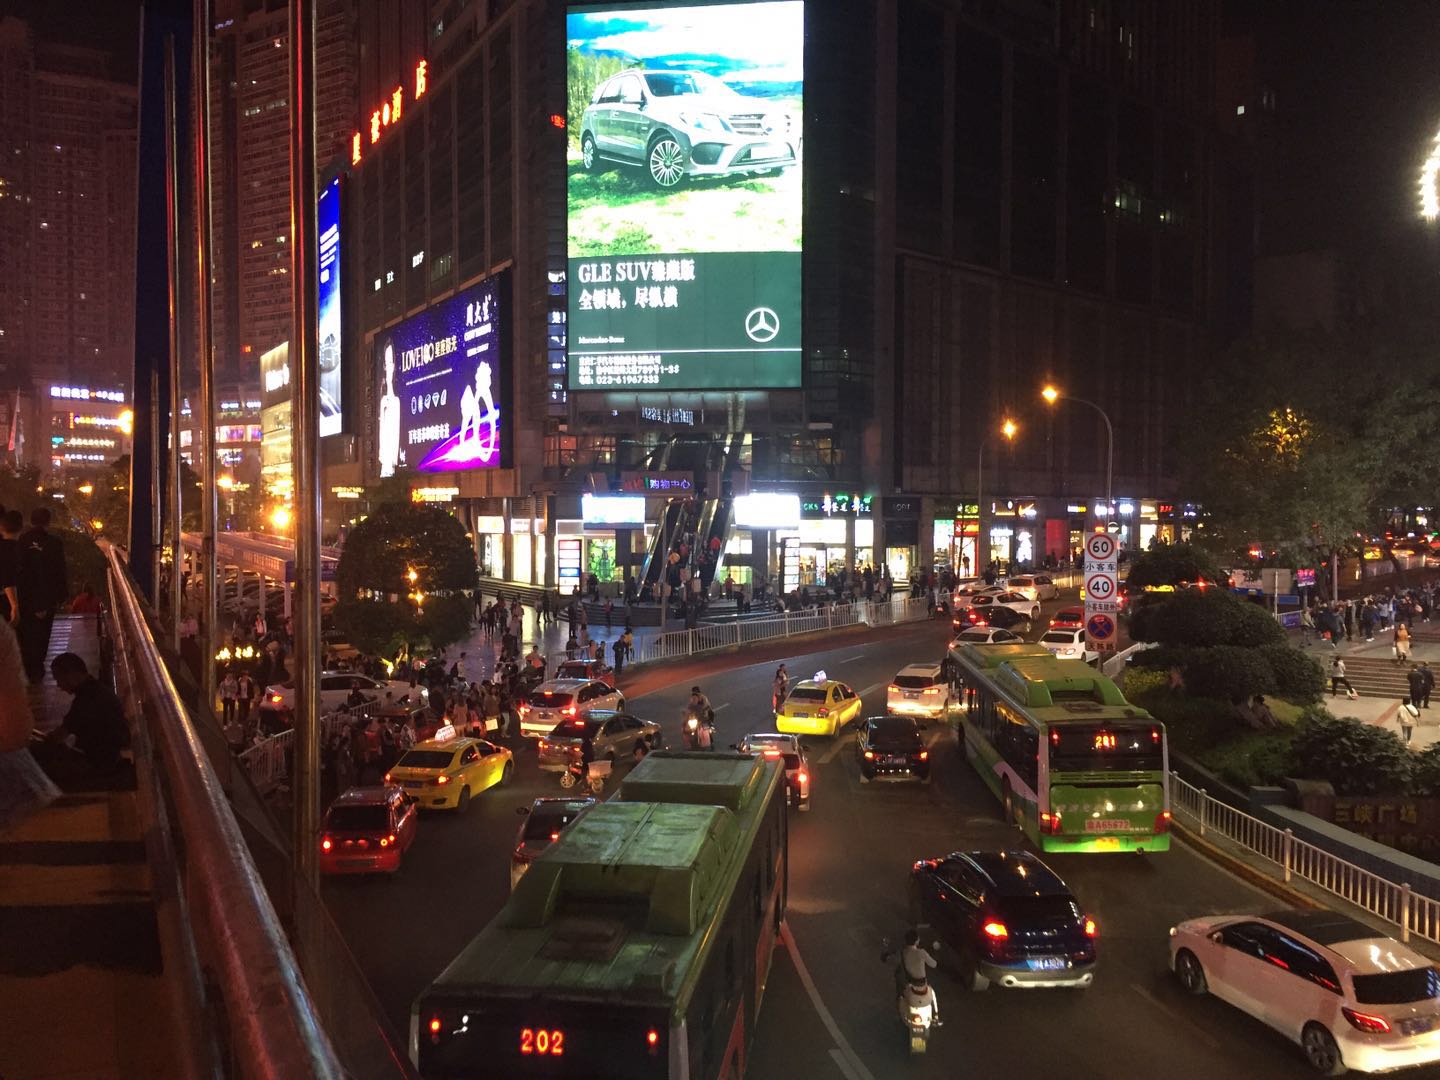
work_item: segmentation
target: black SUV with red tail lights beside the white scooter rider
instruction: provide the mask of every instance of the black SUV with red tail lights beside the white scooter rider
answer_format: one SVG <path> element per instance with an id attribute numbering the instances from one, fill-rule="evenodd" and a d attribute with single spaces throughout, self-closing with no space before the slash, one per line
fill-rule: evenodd
<path id="1" fill-rule="evenodd" d="M 968 988 L 1084 988 L 1094 981 L 1094 920 L 1028 851 L 922 858 L 910 888 L 914 922 L 940 936 Z"/>

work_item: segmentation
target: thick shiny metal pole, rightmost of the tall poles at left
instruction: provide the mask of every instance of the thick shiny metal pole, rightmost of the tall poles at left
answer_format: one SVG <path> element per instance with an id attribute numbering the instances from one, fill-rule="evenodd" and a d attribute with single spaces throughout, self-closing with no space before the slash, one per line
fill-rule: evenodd
<path id="1" fill-rule="evenodd" d="M 320 886 L 320 367 L 315 0 L 289 0 L 291 435 L 295 482 L 295 884 Z"/>

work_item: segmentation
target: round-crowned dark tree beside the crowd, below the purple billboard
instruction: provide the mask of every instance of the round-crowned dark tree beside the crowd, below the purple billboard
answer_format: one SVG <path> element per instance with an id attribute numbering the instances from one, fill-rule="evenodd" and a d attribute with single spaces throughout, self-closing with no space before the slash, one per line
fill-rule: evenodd
<path id="1" fill-rule="evenodd" d="M 439 507 L 386 503 L 357 524 L 336 569 L 336 625 L 364 651 L 445 648 L 469 631 L 480 585 L 465 528 Z"/>

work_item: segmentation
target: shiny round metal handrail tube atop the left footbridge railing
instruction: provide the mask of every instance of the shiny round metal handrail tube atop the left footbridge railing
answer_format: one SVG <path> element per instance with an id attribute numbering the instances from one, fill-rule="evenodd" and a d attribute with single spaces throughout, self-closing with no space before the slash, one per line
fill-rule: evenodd
<path id="1" fill-rule="evenodd" d="M 232 1054 L 246 1076 L 340 1080 L 344 1071 L 200 734 L 160 658 L 120 556 L 114 549 L 107 556 L 117 628 L 130 644 L 130 668 L 144 688 L 148 730 L 164 763 L 174 816 L 181 835 L 196 838 L 184 850 L 186 900 L 203 927 L 196 940 L 226 1007 Z"/>

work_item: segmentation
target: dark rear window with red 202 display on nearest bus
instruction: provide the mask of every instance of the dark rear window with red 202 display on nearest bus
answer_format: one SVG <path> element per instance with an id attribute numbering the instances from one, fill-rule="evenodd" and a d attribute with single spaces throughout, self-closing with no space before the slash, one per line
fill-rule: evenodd
<path id="1" fill-rule="evenodd" d="M 416 1011 L 419 1071 L 428 1080 L 658 1080 L 670 1074 L 670 1021 L 661 1009 L 478 999 L 464 1005 L 418 1002 Z"/>

